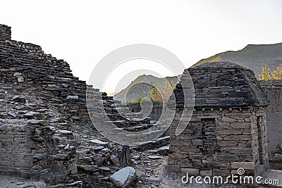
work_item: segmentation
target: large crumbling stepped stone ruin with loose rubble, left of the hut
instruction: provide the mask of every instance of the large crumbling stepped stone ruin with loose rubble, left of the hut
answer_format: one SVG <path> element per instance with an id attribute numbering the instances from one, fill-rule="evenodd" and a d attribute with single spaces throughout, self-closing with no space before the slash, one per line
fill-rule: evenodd
<path id="1" fill-rule="evenodd" d="M 155 123 L 138 119 L 140 113 L 133 113 L 133 120 L 122 119 L 117 108 L 123 107 L 113 97 L 74 77 L 66 61 L 44 54 L 40 46 L 12 40 L 11 27 L 0 25 L 0 175 L 42 180 L 55 187 L 116 187 L 109 176 L 121 169 L 122 146 L 94 128 L 86 93 L 93 110 L 103 103 L 104 115 L 121 129 L 138 131 Z M 156 148 L 168 140 L 169 136 L 160 137 L 137 147 L 131 161 L 147 165 L 143 158 L 149 152 L 166 153 L 167 147 Z M 155 150 L 142 153 L 146 149 Z M 133 178 L 130 171 L 130 183 Z"/>

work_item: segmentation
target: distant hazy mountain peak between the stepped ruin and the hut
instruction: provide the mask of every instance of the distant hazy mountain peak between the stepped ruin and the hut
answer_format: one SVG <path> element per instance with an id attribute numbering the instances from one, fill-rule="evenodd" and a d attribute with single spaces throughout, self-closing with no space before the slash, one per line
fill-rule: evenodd
<path id="1" fill-rule="evenodd" d="M 115 94 L 114 99 L 122 101 L 123 103 L 125 101 L 137 101 L 141 96 L 149 97 L 148 92 L 152 89 L 153 84 L 157 86 L 164 86 L 168 82 L 177 84 L 178 78 L 176 76 L 160 78 L 153 75 L 140 75 L 133 80 L 128 87 L 125 87 L 125 89 L 121 90 L 121 92 Z"/>

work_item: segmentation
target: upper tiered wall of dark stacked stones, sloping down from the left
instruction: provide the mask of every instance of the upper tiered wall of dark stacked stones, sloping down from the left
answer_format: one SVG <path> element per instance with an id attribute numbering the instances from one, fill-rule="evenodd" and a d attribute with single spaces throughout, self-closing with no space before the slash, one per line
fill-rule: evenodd
<path id="1" fill-rule="evenodd" d="M 35 44 L 0 39 L 0 49 L 1 86 L 35 94 L 56 108 L 61 120 L 90 123 L 86 82 L 73 76 L 66 61 L 44 54 Z"/>

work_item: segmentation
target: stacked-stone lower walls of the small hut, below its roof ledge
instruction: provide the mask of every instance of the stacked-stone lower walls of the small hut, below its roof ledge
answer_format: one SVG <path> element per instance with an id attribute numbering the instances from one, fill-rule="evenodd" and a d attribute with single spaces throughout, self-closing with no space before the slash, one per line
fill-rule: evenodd
<path id="1" fill-rule="evenodd" d="M 178 109 L 178 116 L 181 113 Z M 238 168 L 250 175 L 259 173 L 257 125 L 252 125 L 255 118 L 249 108 L 198 108 L 179 136 L 173 135 L 178 125 L 175 118 L 168 165 L 191 175 L 226 176 Z"/>

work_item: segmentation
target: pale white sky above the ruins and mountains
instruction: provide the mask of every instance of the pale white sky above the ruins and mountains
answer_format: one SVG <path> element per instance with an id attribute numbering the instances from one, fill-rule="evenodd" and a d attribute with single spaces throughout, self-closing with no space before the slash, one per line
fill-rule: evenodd
<path id="1" fill-rule="evenodd" d="M 101 58 L 129 44 L 161 46 L 188 68 L 247 44 L 282 42 L 281 10 L 279 0 L 11 0 L 1 1 L 0 23 L 12 27 L 12 39 L 42 46 L 89 80 Z"/>

